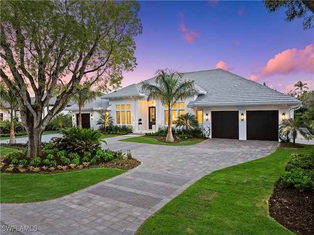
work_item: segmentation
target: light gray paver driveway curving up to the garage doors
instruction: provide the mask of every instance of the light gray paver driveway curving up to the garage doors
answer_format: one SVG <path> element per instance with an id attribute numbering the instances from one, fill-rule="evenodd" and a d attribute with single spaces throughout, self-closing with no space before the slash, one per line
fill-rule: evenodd
<path id="1" fill-rule="evenodd" d="M 1 222 L 37 226 L 47 235 L 131 235 L 158 209 L 214 170 L 264 157 L 275 141 L 208 139 L 192 146 L 160 146 L 106 139 L 105 148 L 126 152 L 143 164 L 125 174 L 62 198 L 2 204 Z M 3 233 L 3 231 L 1 231 Z"/>

